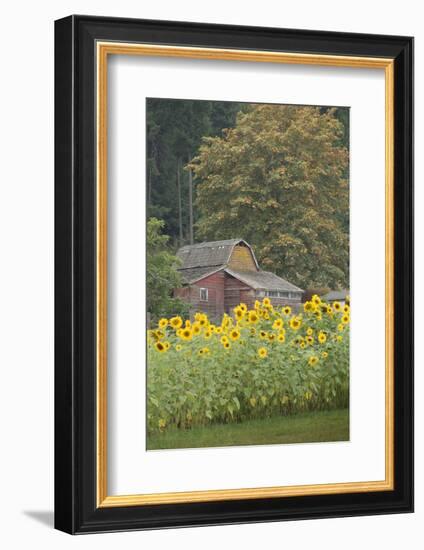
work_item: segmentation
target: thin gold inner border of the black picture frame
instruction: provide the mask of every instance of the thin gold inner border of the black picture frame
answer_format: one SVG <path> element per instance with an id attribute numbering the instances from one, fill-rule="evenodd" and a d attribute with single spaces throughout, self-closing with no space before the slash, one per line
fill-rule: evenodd
<path id="1" fill-rule="evenodd" d="M 108 495 L 107 491 L 107 63 L 109 55 L 181 57 L 262 63 L 383 69 L 385 72 L 385 479 L 348 483 Z M 277 498 L 394 489 L 394 60 L 390 58 L 268 52 L 141 43 L 96 43 L 97 61 L 97 304 L 96 473 L 97 507 L 142 506 Z"/>

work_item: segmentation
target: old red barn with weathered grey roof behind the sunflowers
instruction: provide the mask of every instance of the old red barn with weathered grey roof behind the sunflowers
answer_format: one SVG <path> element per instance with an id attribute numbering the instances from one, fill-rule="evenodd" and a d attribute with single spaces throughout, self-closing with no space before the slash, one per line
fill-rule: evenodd
<path id="1" fill-rule="evenodd" d="M 268 296 L 274 305 L 295 309 L 303 290 L 274 273 L 263 271 L 252 247 L 243 239 L 213 241 L 183 246 L 177 256 L 182 262 L 179 272 L 183 287 L 175 295 L 191 304 L 191 312 L 202 311 L 212 319 L 245 303 Z"/>

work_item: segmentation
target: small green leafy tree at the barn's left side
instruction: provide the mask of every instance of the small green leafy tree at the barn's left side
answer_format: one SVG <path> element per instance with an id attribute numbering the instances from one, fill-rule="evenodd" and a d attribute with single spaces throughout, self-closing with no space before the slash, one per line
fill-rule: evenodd
<path id="1" fill-rule="evenodd" d="M 147 222 L 147 311 L 152 320 L 163 315 L 187 313 L 187 305 L 172 296 L 181 286 L 177 271 L 178 258 L 167 248 L 168 235 L 162 234 L 163 220 L 150 218 Z"/>

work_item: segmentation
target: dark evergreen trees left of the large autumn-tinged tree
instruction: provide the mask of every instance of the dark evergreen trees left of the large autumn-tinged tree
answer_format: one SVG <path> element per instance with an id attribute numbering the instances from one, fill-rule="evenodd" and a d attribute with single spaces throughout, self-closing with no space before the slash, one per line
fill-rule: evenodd
<path id="1" fill-rule="evenodd" d="M 203 136 L 234 126 L 240 108 L 233 102 L 147 99 L 147 215 L 165 220 L 175 244 L 181 244 L 181 232 L 185 241 L 190 234 L 189 178 L 179 167 L 197 154 Z"/>

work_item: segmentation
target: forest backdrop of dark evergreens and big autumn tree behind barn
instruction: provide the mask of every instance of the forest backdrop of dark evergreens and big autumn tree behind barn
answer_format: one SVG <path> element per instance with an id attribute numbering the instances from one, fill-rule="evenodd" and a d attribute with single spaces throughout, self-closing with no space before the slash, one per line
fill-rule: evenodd
<path id="1" fill-rule="evenodd" d="M 149 98 L 146 112 L 147 213 L 171 251 L 240 237 L 302 288 L 348 287 L 348 108 Z"/>

